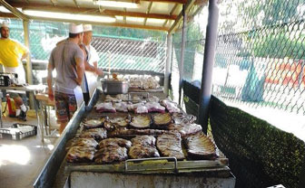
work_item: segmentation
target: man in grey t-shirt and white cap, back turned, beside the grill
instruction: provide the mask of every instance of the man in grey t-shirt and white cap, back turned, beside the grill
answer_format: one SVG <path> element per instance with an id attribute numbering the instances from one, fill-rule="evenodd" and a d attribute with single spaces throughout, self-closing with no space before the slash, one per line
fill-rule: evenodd
<path id="1" fill-rule="evenodd" d="M 69 25 L 69 38 L 59 43 L 51 52 L 48 64 L 48 94 L 55 100 L 57 122 L 60 123 L 59 133 L 80 108 L 84 101 L 81 85 L 84 78 L 84 52 L 79 47 L 83 42 L 83 24 Z M 52 71 L 56 70 L 54 90 Z"/>

